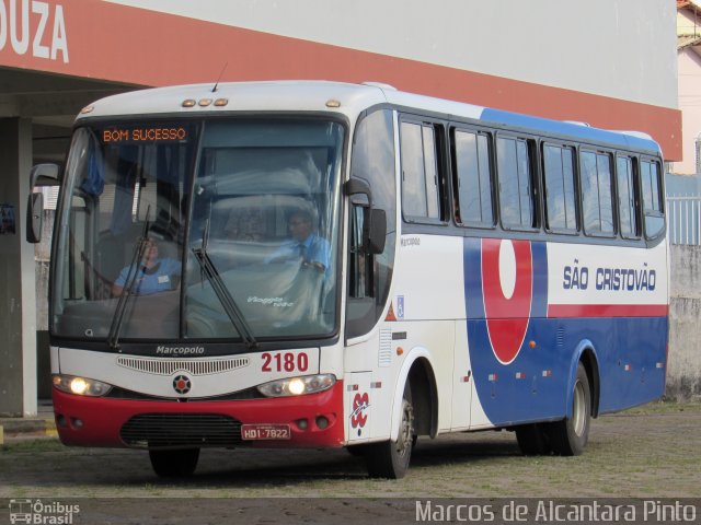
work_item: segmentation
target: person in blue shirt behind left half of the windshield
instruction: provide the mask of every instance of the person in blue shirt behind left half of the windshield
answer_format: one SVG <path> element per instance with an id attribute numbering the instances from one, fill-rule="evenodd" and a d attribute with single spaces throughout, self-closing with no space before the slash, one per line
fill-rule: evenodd
<path id="1" fill-rule="evenodd" d="M 142 262 L 136 271 L 136 282 L 134 283 L 131 293 L 150 295 L 177 288 L 181 264 L 175 259 L 159 258 L 158 242 L 154 238 L 149 238 L 146 242 Z M 122 269 L 119 277 L 117 277 L 112 285 L 112 293 L 114 295 L 122 294 L 128 273 L 129 267 L 126 266 Z"/>

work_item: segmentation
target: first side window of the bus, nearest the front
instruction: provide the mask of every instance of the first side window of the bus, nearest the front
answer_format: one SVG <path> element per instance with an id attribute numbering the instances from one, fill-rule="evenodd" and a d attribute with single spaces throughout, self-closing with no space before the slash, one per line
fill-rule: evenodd
<path id="1" fill-rule="evenodd" d="M 440 220 L 440 190 L 432 125 L 402 122 L 402 210 L 410 221 Z"/>

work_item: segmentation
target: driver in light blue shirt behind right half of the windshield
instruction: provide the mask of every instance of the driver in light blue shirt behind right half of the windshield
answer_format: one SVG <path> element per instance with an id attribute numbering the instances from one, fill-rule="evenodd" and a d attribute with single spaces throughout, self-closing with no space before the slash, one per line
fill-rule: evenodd
<path id="1" fill-rule="evenodd" d="M 325 273 L 331 261 L 331 246 L 329 241 L 313 231 L 311 214 L 306 210 L 295 211 L 289 215 L 287 225 L 292 238 L 277 248 L 265 261 L 301 259 L 302 262 Z"/>

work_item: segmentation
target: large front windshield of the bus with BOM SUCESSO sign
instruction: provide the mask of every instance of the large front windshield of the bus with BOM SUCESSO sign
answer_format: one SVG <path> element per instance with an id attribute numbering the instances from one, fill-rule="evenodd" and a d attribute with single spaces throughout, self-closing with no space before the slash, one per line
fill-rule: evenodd
<path id="1" fill-rule="evenodd" d="M 51 334 L 113 348 L 333 334 L 344 136 L 291 117 L 78 128 Z"/>

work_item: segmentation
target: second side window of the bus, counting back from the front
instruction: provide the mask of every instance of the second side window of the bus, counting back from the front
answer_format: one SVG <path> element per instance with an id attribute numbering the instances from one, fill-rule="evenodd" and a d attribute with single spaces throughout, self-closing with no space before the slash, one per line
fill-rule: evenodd
<path id="1" fill-rule="evenodd" d="M 490 149 L 490 136 L 453 129 L 451 150 L 458 223 L 494 225 Z"/>

